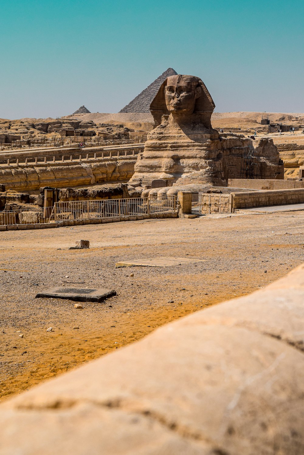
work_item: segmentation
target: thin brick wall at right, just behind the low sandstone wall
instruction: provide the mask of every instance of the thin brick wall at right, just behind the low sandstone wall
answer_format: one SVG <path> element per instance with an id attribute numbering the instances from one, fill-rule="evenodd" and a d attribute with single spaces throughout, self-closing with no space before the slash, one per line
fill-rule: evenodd
<path id="1" fill-rule="evenodd" d="M 229 178 L 228 187 L 248 188 L 252 190 L 287 190 L 293 188 L 304 188 L 304 181 Z"/>

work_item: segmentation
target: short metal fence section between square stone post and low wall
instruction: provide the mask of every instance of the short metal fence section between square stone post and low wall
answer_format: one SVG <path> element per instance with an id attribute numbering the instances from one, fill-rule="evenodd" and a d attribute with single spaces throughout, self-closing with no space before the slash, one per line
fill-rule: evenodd
<path id="1" fill-rule="evenodd" d="M 191 213 L 209 215 L 231 212 L 231 194 L 192 194 Z"/>

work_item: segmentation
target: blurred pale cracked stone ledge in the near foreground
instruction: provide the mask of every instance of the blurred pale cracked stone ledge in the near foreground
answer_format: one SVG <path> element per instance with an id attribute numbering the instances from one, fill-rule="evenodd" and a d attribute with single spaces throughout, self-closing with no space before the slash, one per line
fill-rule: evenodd
<path id="1" fill-rule="evenodd" d="M 303 278 L 301 266 L 6 401 L 0 453 L 303 454 Z"/>

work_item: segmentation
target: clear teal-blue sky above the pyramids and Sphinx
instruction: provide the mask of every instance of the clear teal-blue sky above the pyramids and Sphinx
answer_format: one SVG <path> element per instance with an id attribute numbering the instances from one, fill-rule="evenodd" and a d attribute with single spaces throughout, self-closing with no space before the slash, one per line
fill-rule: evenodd
<path id="1" fill-rule="evenodd" d="M 168 67 L 215 111 L 304 112 L 304 1 L 1 0 L 0 117 L 117 112 Z"/>

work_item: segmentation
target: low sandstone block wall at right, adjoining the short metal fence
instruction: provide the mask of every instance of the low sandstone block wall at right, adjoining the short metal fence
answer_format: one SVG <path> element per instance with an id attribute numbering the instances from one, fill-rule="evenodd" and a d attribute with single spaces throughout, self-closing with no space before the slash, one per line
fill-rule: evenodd
<path id="1" fill-rule="evenodd" d="M 232 193 L 232 212 L 236 208 L 299 204 L 303 202 L 304 188 L 292 190 L 244 191 Z"/>

